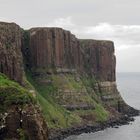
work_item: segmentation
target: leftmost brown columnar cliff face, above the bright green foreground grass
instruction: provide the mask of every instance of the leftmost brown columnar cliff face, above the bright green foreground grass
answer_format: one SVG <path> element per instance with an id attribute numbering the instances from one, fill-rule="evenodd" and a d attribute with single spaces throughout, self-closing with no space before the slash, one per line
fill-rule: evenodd
<path id="1" fill-rule="evenodd" d="M 0 22 L 0 72 L 20 83 L 23 80 L 21 36 L 18 25 Z"/>

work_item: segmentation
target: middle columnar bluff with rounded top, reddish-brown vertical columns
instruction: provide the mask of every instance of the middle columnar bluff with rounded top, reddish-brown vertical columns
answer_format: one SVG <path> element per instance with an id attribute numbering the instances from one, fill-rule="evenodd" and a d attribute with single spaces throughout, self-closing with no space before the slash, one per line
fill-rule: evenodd
<path id="1" fill-rule="evenodd" d="M 30 30 L 32 68 L 73 69 L 78 64 L 78 40 L 61 28 Z"/>

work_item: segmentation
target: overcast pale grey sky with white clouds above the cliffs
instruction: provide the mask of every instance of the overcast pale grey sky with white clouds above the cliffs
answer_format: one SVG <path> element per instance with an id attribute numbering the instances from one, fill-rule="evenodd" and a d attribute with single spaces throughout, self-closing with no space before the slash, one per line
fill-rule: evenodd
<path id="1" fill-rule="evenodd" d="M 0 0 L 0 21 L 113 40 L 117 71 L 140 72 L 140 0 Z"/>

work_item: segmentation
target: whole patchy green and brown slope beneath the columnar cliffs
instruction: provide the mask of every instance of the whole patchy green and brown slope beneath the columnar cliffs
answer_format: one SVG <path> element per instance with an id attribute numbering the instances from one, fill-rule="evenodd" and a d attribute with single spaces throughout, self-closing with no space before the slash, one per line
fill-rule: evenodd
<path id="1" fill-rule="evenodd" d="M 49 77 L 50 75 L 48 75 Z M 77 76 L 77 77 L 76 77 Z M 63 77 L 63 78 L 62 78 Z M 40 78 L 33 78 L 30 72 L 27 72 L 27 79 L 37 91 L 37 100 L 40 104 L 44 117 L 47 120 L 49 128 L 69 128 L 80 126 L 86 122 L 94 124 L 106 121 L 109 117 L 108 111 L 97 103 L 86 91 L 86 85 L 83 80 L 75 74 L 52 74 L 46 80 L 49 83 L 42 83 Z M 78 80 L 78 81 L 77 81 Z M 88 83 L 88 79 L 86 81 Z M 91 81 L 89 80 L 89 83 Z M 68 96 L 66 92 L 78 94 Z M 73 93 L 72 93 L 73 92 Z M 84 94 L 81 94 L 81 93 Z M 86 103 L 86 104 L 85 104 Z M 86 106 L 86 109 L 82 107 Z M 79 106 L 69 110 L 65 106 Z M 88 117 L 87 117 L 88 116 Z M 93 119 L 94 118 L 94 119 Z"/>

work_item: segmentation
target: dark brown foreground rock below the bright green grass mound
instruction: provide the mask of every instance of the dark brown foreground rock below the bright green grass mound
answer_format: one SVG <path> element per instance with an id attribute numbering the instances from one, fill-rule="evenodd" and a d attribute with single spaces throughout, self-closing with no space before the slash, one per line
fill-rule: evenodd
<path id="1" fill-rule="evenodd" d="M 29 140 L 47 140 L 48 129 L 40 110 L 33 105 L 24 109 L 13 106 L 7 111 L 5 119 L 5 138 L 20 139 L 22 135 Z"/>

